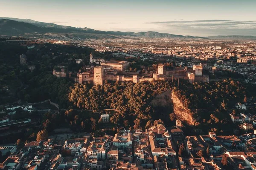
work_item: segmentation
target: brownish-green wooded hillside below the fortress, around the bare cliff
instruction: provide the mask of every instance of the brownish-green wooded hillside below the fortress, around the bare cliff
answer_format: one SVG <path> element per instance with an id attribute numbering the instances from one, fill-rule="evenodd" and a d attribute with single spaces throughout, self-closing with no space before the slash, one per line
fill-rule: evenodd
<path id="1" fill-rule="evenodd" d="M 144 128 L 159 120 L 167 126 L 174 123 L 175 115 L 172 109 L 153 108 L 150 102 L 154 97 L 167 89 L 171 89 L 183 103 L 191 109 L 197 118 L 195 128 L 215 128 L 230 122 L 229 113 L 237 114 L 234 108 L 236 102 L 242 102 L 244 97 L 255 95 L 253 86 L 242 84 L 232 79 L 219 82 L 194 83 L 187 81 L 154 81 L 143 83 L 106 82 L 103 86 L 88 86 L 74 84 L 70 88 L 68 100 L 79 109 L 94 112 L 103 109 L 117 109 L 119 114 L 112 115 L 114 124 L 129 121 L 134 128 Z M 171 105 L 171 104 L 170 104 Z M 206 129 L 208 130 L 208 129 Z"/>

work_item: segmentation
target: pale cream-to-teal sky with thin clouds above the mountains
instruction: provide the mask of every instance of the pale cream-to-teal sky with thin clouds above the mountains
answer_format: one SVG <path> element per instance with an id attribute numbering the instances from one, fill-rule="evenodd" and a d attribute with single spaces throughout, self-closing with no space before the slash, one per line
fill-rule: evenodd
<path id="1" fill-rule="evenodd" d="M 256 36 L 256 0 L 0 0 L 0 17 L 103 31 Z"/>

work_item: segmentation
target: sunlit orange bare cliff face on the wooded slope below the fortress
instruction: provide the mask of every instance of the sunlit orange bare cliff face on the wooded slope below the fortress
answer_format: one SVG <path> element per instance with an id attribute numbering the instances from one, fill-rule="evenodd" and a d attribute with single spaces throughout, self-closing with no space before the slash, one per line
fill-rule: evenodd
<path id="1" fill-rule="evenodd" d="M 177 119 L 186 122 L 189 125 L 195 124 L 195 119 L 193 118 L 193 113 L 190 109 L 187 109 L 180 102 L 179 98 L 172 93 L 172 103 L 173 103 L 173 112 L 176 115 Z"/>

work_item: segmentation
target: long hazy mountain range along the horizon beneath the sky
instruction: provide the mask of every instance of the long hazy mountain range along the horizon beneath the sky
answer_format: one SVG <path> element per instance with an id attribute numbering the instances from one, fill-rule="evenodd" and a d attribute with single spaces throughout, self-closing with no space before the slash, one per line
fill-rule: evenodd
<path id="1" fill-rule="evenodd" d="M 118 38 L 125 37 L 166 37 L 166 38 L 190 38 L 190 39 L 256 39 L 255 36 L 210 36 L 195 37 L 174 35 L 159 32 L 114 32 L 99 31 L 87 27 L 76 28 L 72 26 L 61 26 L 54 23 L 44 23 L 30 19 L 19 19 L 0 17 L 0 35 L 4 36 L 23 36 L 23 37 L 44 37 L 49 34 L 65 35 L 69 38 L 85 39 L 85 38 Z"/>

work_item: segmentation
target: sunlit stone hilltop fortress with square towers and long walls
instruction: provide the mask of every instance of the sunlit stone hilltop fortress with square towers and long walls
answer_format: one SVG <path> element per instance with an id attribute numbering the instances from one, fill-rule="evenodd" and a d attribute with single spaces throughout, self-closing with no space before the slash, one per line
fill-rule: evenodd
<path id="1" fill-rule="evenodd" d="M 163 64 L 154 64 L 154 70 L 145 73 L 125 72 L 129 65 L 130 63 L 127 61 L 104 61 L 101 66 L 91 67 L 87 72 L 79 71 L 71 74 L 62 68 L 61 71 L 53 70 L 53 75 L 70 77 L 79 84 L 90 81 L 94 85 L 103 85 L 105 80 L 140 83 L 143 81 L 171 80 L 172 78 L 189 80 L 190 83 L 209 82 L 209 76 L 203 75 L 201 64 L 194 65 L 193 68 L 174 67 L 172 70 L 166 70 Z"/>

